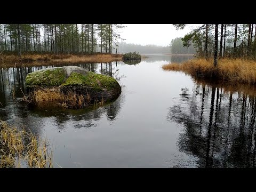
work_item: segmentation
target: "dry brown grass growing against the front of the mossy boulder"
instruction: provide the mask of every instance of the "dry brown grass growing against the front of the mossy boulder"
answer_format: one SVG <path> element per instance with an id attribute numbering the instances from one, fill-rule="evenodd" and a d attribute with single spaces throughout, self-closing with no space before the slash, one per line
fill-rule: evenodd
<path id="1" fill-rule="evenodd" d="M 38 107 L 55 105 L 65 108 L 81 109 L 92 105 L 92 98 L 88 93 L 86 95 L 77 94 L 71 90 L 66 93 L 58 89 L 36 90 L 30 93 L 28 100 Z M 102 106 L 104 100 L 102 98 L 101 101 L 93 100 L 93 102 L 94 105 Z"/>

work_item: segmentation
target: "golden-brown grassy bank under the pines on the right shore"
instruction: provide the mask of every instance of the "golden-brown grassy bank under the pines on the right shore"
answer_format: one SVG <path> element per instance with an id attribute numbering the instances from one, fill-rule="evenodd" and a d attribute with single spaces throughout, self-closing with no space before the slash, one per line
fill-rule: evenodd
<path id="1" fill-rule="evenodd" d="M 213 59 L 191 59 L 183 63 L 170 63 L 164 70 L 183 71 L 194 78 L 222 82 L 256 83 L 256 61 L 243 59 L 220 59 L 213 66 Z"/>

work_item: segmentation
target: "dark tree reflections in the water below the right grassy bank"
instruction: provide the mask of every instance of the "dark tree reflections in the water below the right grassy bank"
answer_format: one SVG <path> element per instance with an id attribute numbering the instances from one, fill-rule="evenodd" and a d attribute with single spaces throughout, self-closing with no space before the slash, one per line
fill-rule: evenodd
<path id="1" fill-rule="evenodd" d="M 196 82 L 189 100 L 170 107 L 167 119 L 184 127 L 179 150 L 198 167 L 255 167 L 255 92 L 236 87 Z"/>

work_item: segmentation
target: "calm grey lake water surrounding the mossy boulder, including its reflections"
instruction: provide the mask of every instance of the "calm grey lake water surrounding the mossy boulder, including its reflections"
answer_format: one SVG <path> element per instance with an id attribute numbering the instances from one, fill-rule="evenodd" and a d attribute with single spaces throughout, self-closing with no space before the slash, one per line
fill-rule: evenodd
<path id="1" fill-rule="evenodd" d="M 19 102 L 26 75 L 45 67 L 0 69 L 0 119 L 46 137 L 54 167 L 255 167 L 255 88 L 161 68 L 191 56 L 147 56 L 136 65 L 77 65 L 122 86 L 95 109 L 30 109 Z"/>

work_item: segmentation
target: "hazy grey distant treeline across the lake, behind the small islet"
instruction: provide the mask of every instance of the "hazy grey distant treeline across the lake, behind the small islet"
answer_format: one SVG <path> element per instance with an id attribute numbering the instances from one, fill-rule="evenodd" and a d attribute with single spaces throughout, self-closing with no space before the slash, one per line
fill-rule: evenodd
<path id="1" fill-rule="evenodd" d="M 140 54 L 153 54 L 153 53 L 171 53 L 170 46 L 157 46 L 157 45 L 138 45 L 133 43 L 121 42 L 118 44 L 118 53 L 139 52 Z"/>

